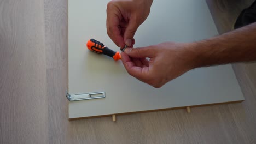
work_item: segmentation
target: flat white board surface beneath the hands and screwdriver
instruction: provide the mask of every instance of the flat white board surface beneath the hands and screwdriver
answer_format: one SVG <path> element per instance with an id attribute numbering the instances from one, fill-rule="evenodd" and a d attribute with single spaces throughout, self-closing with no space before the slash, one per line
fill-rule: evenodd
<path id="1" fill-rule="evenodd" d="M 244 100 L 231 65 L 194 69 L 156 89 L 127 74 L 121 61 L 90 52 L 86 42 L 91 38 L 119 50 L 106 32 L 107 3 L 68 1 L 69 93 L 106 92 L 106 98 L 69 102 L 69 118 Z M 205 1 L 154 1 L 135 47 L 217 34 Z"/>

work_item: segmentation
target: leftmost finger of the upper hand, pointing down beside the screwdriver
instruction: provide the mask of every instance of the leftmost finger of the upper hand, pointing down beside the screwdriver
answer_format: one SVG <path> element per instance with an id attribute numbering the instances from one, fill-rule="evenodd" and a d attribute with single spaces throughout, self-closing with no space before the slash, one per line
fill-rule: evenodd
<path id="1" fill-rule="evenodd" d="M 118 46 L 124 47 L 124 39 L 119 29 L 120 17 L 113 12 L 107 10 L 107 33 L 110 39 Z"/>

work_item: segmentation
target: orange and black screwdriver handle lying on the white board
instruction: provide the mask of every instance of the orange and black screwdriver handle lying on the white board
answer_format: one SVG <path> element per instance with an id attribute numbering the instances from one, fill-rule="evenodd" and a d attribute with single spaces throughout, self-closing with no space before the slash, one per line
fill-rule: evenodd
<path id="1" fill-rule="evenodd" d="M 93 51 L 98 54 L 107 55 L 109 57 L 112 57 L 115 61 L 122 59 L 122 57 L 118 51 L 115 52 L 115 51 L 109 49 L 107 46 L 104 46 L 103 43 L 101 43 L 100 41 L 97 41 L 95 39 L 88 40 L 86 45 L 90 51 Z"/>

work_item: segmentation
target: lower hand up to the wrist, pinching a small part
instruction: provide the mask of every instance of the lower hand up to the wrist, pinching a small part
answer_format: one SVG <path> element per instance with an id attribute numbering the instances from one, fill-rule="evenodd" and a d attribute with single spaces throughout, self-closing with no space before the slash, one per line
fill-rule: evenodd
<path id="1" fill-rule="evenodd" d="M 126 48 L 122 61 L 127 72 L 153 87 L 159 88 L 168 81 L 195 67 L 193 44 L 161 43 L 158 45 Z M 146 59 L 146 57 L 150 58 Z"/>

